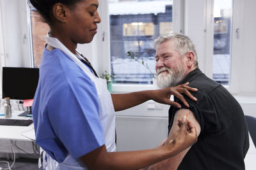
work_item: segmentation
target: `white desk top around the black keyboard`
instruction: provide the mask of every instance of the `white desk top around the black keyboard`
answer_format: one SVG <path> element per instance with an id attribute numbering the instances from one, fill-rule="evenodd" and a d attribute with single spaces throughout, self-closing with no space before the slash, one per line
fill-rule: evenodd
<path id="1" fill-rule="evenodd" d="M 12 119 L 31 119 L 31 117 L 19 117 L 18 115 L 24 111 L 12 111 Z M 3 113 L 3 111 L 0 111 Z M 4 118 L 4 116 L 0 116 Z M 24 132 L 33 133 L 34 124 L 29 126 L 10 126 L 10 125 L 0 125 L 0 139 L 6 140 L 17 140 L 17 141 L 33 141 L 22 135 Z M 35 134 L 35 132 L 34 132 Z"/>

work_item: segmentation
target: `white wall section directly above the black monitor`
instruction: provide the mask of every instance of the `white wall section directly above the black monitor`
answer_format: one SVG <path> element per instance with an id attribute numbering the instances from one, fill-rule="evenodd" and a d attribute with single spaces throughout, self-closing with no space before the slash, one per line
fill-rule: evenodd
<path id="1" fill-rule="evenodd" d="M 30 67 L 26 1 L 1 0 L 4 59 L 2 66 Z M 23 37 L 26 36 L 26 39 Z"/>

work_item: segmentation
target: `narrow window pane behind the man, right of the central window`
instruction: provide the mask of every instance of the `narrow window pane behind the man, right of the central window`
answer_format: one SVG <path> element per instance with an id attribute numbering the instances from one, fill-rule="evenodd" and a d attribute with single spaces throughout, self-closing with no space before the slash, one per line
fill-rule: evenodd
<path id="1" fill-rule="evenodd" d="M 214 55 L 212 78 L 229 85 L 231 67 L 232 0 L 214 1 Z"/>

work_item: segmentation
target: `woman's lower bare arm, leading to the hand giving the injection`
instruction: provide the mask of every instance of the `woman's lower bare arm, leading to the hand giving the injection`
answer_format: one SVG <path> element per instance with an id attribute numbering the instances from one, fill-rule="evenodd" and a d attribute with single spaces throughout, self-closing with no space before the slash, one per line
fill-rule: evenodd
<path id="1" fill-rule="evenodd" d="M 140 169 L 164 160 L 179 152 L 179 146 L 170 143 L 151 150 L 131 152 L 106 152 L 106 146 L 102 146 L 81 157 L 88 169 Z"/>

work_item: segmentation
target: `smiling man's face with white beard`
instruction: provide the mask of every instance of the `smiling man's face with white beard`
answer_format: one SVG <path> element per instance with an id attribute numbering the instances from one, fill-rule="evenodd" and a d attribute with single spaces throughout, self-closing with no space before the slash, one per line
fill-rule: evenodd
<path id="1" fill-rule="evenodd" d="M 160 88 L 178 85 L 186 74 L 185 66 L 184 57 L 175 50 L 172 41 L 165 41 L 157 46 L 156 73 Z"/>

